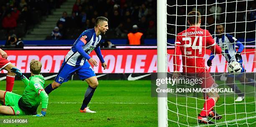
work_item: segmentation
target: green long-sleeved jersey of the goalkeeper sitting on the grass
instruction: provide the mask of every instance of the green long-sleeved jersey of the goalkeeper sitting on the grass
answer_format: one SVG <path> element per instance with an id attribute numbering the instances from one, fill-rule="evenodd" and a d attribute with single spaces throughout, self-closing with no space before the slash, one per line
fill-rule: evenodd
<path id="1" fill-rule="evenodd" d="M 21 80 L 26 85 L 26 88 L 18 102 L 20 109 L 34 114 L 40 102 L 42 102 L 43 109 L 47 108 L 48 95 L 44 91 L 44 76 L 34 75 L 29 80 L 23 76 Z"/>

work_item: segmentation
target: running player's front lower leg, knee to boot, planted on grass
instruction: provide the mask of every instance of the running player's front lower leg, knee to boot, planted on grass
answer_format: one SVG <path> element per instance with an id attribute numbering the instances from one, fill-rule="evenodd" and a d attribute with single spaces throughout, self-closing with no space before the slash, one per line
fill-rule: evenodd
<path id="1" fill-rule="evenodd" d="M 94 111 L 91 111 L 89 109 L 89 107 L 87 107 L 87 105 L 89 104 L 89 102 L 92 99 L 92 96 L 97 88 L 97 86 L 99 85 L 97 77 L 96 76 L 92 76 L 88 79 L 85 79 L 85 81 L 87 81 L 87 84 L 89 84 L 85 94 L 84 94 L 84 100 L 83 100 L 83 104 L 80 108 L 80 112 L 88 112 L 88 113 L 96 113 Z"/>

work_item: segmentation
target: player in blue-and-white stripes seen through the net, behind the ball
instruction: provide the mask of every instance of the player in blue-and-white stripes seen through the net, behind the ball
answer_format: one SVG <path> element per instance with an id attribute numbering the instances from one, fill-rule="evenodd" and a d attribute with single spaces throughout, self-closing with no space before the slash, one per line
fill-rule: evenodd
<path id="1" fill-rule="evenodd" d="M 223 56 L 228 61 L 228 64 L 232 61 L 237 61 L 241 64 L 242 70 L 241 74 L 236 76 L 239 81 L 243 84 L 246 83 L 246 85 L 254 86 L 255 80 L 246 78 L 245 69 L 243 68 L 243 59 L 241 56 L 241 52 L 244 49 L 243 44 L 238 41 L 235 37 L 231 36 L 230 34 L 225 34 L 224 26 L 222 24 L 216 25 L 216 37 L 214 38 L 215 42 L 221 47 Z M 236 51 L 236 46 L 238 46 L 238 51 Z M 210 58 L 207 61 L 207 66 L 212 66 L 212 59 L 214 58 L 214 54 L 211 53 Z M 234 75 L 230 74 L 227 77 L 226 84 L 232 88 L 236 94 L 238 94 L 238 98 L 235 100 L 236 102 L 242 101 L 244 99 L 244 93 L 241 92 L 241 90 L 238 88 L 236 84 L 234 84 Z"/>

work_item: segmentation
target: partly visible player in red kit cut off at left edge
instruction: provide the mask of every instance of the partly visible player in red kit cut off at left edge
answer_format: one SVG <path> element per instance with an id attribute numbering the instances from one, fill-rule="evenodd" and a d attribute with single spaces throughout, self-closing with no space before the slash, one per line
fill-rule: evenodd
<path id="1" fill-rule="evenodd" d="M 6 91 L 13 91 L 13 84 L 15 79 L 15 74 L 10 71 L 11 68 L 15 67 L 13 64 L 10 63 L 6 58 L 8 57 L 7 53 L 0 49 L 0 71 L 5 69 L 8 71 L 6 75 Z"/>

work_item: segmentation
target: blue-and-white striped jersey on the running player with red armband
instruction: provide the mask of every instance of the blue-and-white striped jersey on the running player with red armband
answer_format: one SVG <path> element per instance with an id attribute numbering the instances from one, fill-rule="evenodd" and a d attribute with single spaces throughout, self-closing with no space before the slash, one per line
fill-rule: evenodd
<path id="1" fill-rule="evenodd" d="M 82 48 L 85 53 L 89 55 L 99 45 L 101 36 L 96 36 L 94 28 L 85 30 L 77 38 L 71 50 L 65 56 L 65 61 L 71 66 L 82 66 L 84 64 L 84 61 L 87 61 L 87 59 L 84 58 L 80 53 L 78 53 L 75 48 L 81 38 L 86 42 L 85 45 L 82 46 Z"/>

